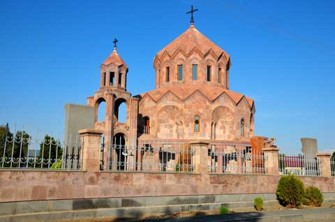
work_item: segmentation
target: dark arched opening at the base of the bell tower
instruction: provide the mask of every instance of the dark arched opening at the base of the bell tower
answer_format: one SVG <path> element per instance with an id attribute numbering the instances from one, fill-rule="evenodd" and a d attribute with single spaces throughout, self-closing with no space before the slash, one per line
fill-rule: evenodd
<path id="1" fill-rule="evenodd" d="M 124 134 L 115 134 L 113 141 L 114 150 L 117 153 L 117 170 L 124 171 L 126 168 L 126 140 L 124 139 Z"/>

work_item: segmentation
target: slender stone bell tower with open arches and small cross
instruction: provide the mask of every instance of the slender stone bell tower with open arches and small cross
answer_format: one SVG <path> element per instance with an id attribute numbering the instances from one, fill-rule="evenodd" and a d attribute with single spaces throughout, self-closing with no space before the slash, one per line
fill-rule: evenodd
<path id="1" fill-rule="evenodd" d="M 117 42 L 114 39 L 112 54 L 101 64 L 100 89 L 94 97 L 87 98 L 87 104 L 95 107 L 95 128 L 104 131 L 104 169 L 111 168 L 110 153 L 114 143 L 125 147 L 137 142 L 138 99 L 131 97 L 126 90 L 128 66 L 117 52 Z M 98 109 L 102 102 L 105 102 L 105 120 L 98 122 Z M 121 106 L 126 107 L 124 112 Z"/>

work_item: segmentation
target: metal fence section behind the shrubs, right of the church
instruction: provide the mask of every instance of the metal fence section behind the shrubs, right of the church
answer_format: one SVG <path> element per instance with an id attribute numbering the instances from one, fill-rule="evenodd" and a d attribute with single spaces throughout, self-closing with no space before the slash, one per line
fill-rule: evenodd
<path id="1" fill-rule="evenodd" d="M 307 154 L 279 154 L 279 174 L 321 176 L 320 159 Z"/>

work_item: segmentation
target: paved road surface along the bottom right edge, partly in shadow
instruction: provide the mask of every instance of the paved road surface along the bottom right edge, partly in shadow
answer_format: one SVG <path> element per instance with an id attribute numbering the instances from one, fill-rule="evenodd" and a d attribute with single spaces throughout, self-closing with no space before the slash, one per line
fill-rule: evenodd
<path id="1" fill-rule="evenodd" d="M 335 207 L 317 209 L 283 209 L 273 212 L 248 212 L 226 215 L 206 215 L 169 219 L 131 220 L 127 222 L 228 222 L 228 221 L 257 221 L 257 222 L 289 222 L 289 221 L 335 221 Z"/>

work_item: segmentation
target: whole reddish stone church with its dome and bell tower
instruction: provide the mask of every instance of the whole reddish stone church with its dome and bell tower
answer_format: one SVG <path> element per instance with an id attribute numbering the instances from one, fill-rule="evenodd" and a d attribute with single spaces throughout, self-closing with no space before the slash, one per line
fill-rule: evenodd
<path id="1" fill-rule="evenodd" d="M 253 99 L 230 90 L 230 55 L 193 23 L 158 51 L 156 88 L 140 95 L 127 90 L 128 65 L 115 43 L 101 64 L 100 88 L 87 98 L 87 105 L 95 108 L 94 125 L 103 129 L 105 143 L 139 145 L 148 139 L 250 143 Z M 101 102 L 106 106 L 105 122 L 98 122 Z M 123 103 L 126 122 L 119 122 Z"/>

